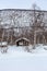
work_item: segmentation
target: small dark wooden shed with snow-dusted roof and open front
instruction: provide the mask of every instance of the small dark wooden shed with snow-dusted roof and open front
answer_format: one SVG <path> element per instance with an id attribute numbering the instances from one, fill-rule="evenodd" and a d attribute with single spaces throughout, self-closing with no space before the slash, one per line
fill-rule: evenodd
<path id="1" fill-rule="evenodd" d="M 15 40 L 16 46 L 28 46 L 30 45 L 30 39 L 25 37 L 21 37 Z"/>

